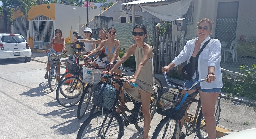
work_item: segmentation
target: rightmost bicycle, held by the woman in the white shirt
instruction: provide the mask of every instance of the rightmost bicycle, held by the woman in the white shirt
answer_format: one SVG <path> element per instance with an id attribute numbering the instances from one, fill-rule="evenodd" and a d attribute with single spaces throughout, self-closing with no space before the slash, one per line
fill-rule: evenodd
<path id="1" fill-rule="evenodd" d="M 186 91 L 191 90 L 197 83 L 207 81 L 207 79 L 198 80 L 192 85 L 191 88 L 187 89 L 187 88 L 182 88 L 180 86 L 169 84 L 166 76 L 166 72 L 164 72 L 164 75 L 165 75 L 167 84 L 171 88 L 178 89 L 179 92 L 171 91 L 164 88 L 159 88 L 157 113 L 166 117 L 163 118 L 161 122 L 158 124 L 158 126 L 156 127 L 152 135 L 152 139 L 157 139 L 157 138 L 179 139 L 181 135 L 180 119 L 183 120 L 184 126 L 186 128 L 186 135 L 189 136 L 192 133 L 196 133 L 195 137 L 197 136 L 199 139 L 207 139 L 208 134 L 207 134 L 207 131 L 205 130 L 205 120 L 202 114 L 200 98 L 199 99 L 192 98 L 194 95 L 198 94 L 199 91 L 195 91 L 190 95 L 181 94 L 182 90 L 186 90 Z M 219 124 L 219 118 L 220 118 L 220 99 L 221 99 L 221 95 L 219 96 L 215 106 L 216 126 L 217 124 Z M 190 116 L 189 123 L 187 123 L 184 113 L 188 105 L 190 105 L 193 102 L 198 103 L 197 109 L 194 117 Z M 199 109 L 201 109 L 200 112 L 199 112 Z M 198 112 L 199 112 L 199 115 L 198 115 Z"/>

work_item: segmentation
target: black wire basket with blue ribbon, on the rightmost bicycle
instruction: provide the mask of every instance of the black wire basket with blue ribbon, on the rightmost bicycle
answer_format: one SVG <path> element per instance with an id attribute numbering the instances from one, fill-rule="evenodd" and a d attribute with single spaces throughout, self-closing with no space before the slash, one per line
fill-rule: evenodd
<path id="1" fill-rule="evenodd" d="M 183 103 L 184 95 L 162 87 L 158 88 L 157 113 L 168 116 L 174 120 L 180 120 L 190 103 L 192 97 L 187 97 Z"/>

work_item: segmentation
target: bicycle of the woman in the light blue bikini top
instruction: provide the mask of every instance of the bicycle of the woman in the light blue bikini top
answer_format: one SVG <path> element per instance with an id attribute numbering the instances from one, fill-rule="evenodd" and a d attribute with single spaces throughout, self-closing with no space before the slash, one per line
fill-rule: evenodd
<path id="1" fill-rule="evenodd" d="M 88 63 L 88 59 L 86 59 L 86 61 Z M 104 61 L 101 61 L 101 60 L 92 59 L 92 61 L 98 61 L 98 62 L 104 63 L 107 66 L 106 67 L 107 71 L 109 71 L 110 68 L 113 67 L 109 64 L 106 64 Z M 90 65 L 91 67 L 93 67 L 95 69 L 105 69 L 105 68 L 98 68 L 96 66 L 91 65 L 90 63 L 88 63 L 88 65 Z M 127 72 L 127 70 L 124 70 L 122 68 L 119 68 L 119 70 L 123 70 L 123 71 Z M 119 78 L 123 77 L 122 76 L 123 74 L 119 75 L 119 74 L 114 73 L 114 75 L 119 77 Z M 103 78 L 105 79 L 105 81 L 103 83 L 105 83 L 106 80 L 108 80 L 108 79 L 105 78 L 104 76 L 103 76 Z M 100 83 L 102 84 L 102 82 L 100 82 Z M 93 86 L 93 84 L 89 83 L 83 91 L 83 94 L 81 96 L 81 99 L 80 99 L 79 104 L 78 104 L 78 109 L 77 109 L 77 115 L 76 116 L 77 116 L 78 119 L 81 119 L 84 116 L 84 114 L 85 114 L 85 112 L 86 112 L 86 110 L 89 106 L 89 103 L 90 103 L 90 100 L 91 100 L 91 97 L 92 97 L 92 90 L 91 90 L 92 86 Z M 125 100 L 127 102 L 134 101 L 134 99 L 132 97 L 130 97 L 128 94 L 126 94 L 124 97 L 125 97 Z M 95 109 L 96 109 L 96 105 L 93 105 L 89 116 L 91 116 L 95 112 Z"/>

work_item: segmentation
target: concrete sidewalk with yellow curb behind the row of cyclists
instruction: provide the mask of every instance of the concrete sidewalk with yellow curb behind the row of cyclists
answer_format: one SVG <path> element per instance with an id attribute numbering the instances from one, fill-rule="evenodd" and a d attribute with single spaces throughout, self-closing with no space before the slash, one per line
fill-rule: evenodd
<path id="1" fill-rule="evenodd" d="M 68 57 L 61 58 L 61 74 L 65 73 L 65 61 Z M 47 54 L 32 52 L 31 56 L 32 61 L 37 61 L 41 63 L 47 63 Z M 84 63 L 83 60 L 80 61 L 81 64 Z M 64 70 L 62 70 L 64 69 Z M 130 72 L 130 68 L 125 67 L 128 70 L 127 75 L 132 75 Z M 165 78 L 162 74 L 155 74 L 155 77 L 160 79 L 163 86 L 168 86 L 165 82 Z M 178 85 L 183 85 L 184 81 L 168 78 L 170 82 L 175 82 Z M 227 98 L 227 99 L 226 99 Z M 241 131 L 249 128 L 256 128 L 256 121 L 254 120 L 255 109 L 249 108 L 247 104 L 244 103 L 243 100 L 230 100 L 232 98 L 228 98 L 223 96 L 221 100 L 221 115 L 220 115 L 220 124 L 216 128 L 216 136 L 222 137 L 232 132 Z M 245 121 L 249 121 L 248 125 L 244 125 Z"/>

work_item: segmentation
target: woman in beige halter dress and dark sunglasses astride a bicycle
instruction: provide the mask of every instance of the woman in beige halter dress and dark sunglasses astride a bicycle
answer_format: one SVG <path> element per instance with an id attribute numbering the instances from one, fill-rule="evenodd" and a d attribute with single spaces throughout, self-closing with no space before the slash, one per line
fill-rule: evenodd
<path id="1" fill-rule="evenodd" d="M 148 133 L 151 122 L 151 115 L 149 111 L 150 97 L 154 93 L 154 67 L 152 61 L 152 49 L 144 42 L 147 37 L 146 27 L 138 24 L 133 28 L 133 39 L 136 44 L 131 45 L 124 56 L 117 61 L 115 66 L 109 71 L 103 71 L 103 74 L 112 74 L 125 60 L 132 54 L 135 54 L 136 72 L 132 76 L 125 77 L 126 84 L 123 88 L 125 91 L 137 101 L 141 101 L 142 113 L 144 115 L 144 134 L 143 139 L 148 139 Z M 135 88 L 129 83 L 136 83 L 138 86 Z M 121 99 L 124 101 L 124 95 L 121 92 Z M 122 106 L 123 107 L 123 106 Z M 124 109 L 124 108 L 123 108 Z M 116 110 L 120 113 L 120 110 Z"/>

